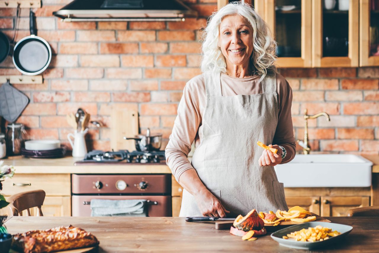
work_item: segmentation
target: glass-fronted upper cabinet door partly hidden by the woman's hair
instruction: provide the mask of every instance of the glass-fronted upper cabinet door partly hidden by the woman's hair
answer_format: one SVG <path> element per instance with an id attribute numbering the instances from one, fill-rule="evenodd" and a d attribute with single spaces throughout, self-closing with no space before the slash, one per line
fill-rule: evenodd
<path id="1" fill-rule="evenodd" d="M 310 0 L 265 1 L 264 18 L 277 41 L 278 67 L 312 66 L 311 8 Z"/>

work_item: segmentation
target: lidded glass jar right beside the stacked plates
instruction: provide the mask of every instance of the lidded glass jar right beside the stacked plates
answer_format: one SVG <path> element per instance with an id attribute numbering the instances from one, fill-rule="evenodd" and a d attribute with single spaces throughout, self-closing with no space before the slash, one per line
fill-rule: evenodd
<path id="1" fill-rule="evenodd" d="M 24 146 L 25 129 L 21 123 L 9 123 L 6 131 L 6 153 L 8 156 L 18 156 Z"/>

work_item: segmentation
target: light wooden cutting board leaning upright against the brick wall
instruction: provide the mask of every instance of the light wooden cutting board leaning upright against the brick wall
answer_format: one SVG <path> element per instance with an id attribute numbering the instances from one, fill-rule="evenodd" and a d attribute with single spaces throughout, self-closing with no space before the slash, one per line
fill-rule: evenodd
<path id="1" fill-rule="evenodd" d="M 135 140 L 124 140 L 124 137 L 138 135 L 138 112 L 114 104 L 111 112 L 111 149 L 135 151 Z"/>

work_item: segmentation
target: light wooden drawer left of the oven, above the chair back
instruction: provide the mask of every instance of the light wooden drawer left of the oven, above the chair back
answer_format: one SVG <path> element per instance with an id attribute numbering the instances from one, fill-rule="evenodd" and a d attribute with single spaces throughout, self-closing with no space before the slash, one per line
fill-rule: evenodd
<path id="1" fill-rule="evenodd" d="M 44 190 L 47 196 L 70 196 L 70 174 L 14 174 L 3 181 L 3 195 L 30 190 Z"/>

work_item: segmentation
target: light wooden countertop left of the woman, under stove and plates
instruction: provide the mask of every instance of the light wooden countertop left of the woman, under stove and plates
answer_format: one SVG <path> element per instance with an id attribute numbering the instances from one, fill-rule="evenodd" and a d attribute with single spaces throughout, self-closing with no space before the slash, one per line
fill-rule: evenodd
<path id="1" fill-rule="evenodd" d="M 171 170 L 166 164 L 91 164 L 74 165 L 81 160 L 75 157 L 56 159 L 25 158 L 13 156 L 3 159 L 4 164 L 13 165 L 17 174 L 119 174 L 119 173 L 169 173 Z"/>

